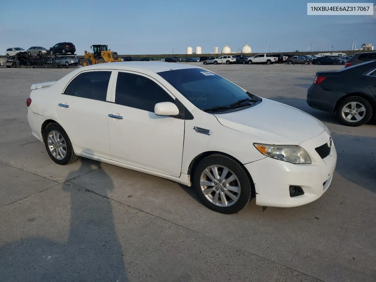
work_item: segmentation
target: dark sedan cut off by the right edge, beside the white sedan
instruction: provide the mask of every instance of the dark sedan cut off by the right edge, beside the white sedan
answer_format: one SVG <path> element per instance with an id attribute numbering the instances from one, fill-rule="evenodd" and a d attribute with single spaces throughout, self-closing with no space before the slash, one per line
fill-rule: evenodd
<path id="1" fill-rule="evenodd" d="M 366 123 L 376 111 L 376 60 L 336 71 L 317 71 L 307 103 L 314 109 L 337 113 L 347 126 Z"/>

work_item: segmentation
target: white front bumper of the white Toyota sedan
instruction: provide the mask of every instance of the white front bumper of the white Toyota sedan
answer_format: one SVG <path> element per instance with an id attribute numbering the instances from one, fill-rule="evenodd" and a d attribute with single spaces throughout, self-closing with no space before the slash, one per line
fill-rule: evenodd
<path id="1" fill-rule="evenodd" d="M 312 164 L 297 165 L 269 157 L 246 164 L 255 183 L 256 205 L 287 208 L 320 198 L 332 182 L 337 151 L 332 144 L 329 156 L 321 159 L 315 148 L 329 144 L 329 138 L 329 130 L 326 130 L 300 144 L 310 155 Z M 290 197 L 290 185 L 302 187 L 304 194 Z"/>

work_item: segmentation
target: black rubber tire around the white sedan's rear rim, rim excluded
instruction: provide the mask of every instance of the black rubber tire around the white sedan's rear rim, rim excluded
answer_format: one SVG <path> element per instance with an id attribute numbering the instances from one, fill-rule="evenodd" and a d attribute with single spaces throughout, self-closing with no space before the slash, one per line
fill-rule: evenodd
<path id="1" fill-rule="evenodd" d="M 65 140 L 65 146 L 66 146 L 66 152 L 67 153 L 66 153 L 66 155 L 63 159 L 55 158 L 55 156 L 53 156 L 51 151 L 50 151 L 50 148 L 49 148 L 49 145 L 48 145 L 48 136 L 49 136 L 49 134 L 52 130 L 59 132 L 60 135 L 62 135 L 64 140 Z M 72 143 L 71 143 L 67 133 L 65 132 L 65 130 L 59 124 L 56 124 L 56 123 L 50 124 L 44 132 L 43 140 L 44 140 L 44 144 L 45 144 L 45 148 L 47 150 L 47 153 L 49 154 L 50 158 L 54 162 L 56 162 L 56 164 L 67 165 L 67 164 L 71 164 L 73 162 L 76 162 L 80 159 L 80 157 L 77 156 L 74 153 Z"/>

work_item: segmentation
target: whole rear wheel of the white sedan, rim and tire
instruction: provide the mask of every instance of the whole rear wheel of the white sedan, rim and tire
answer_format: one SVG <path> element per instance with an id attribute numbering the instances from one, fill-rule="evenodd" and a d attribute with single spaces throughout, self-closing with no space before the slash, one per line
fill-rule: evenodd
<path id="1" fill-rule="evenodd" d="M 50 158 L 59 165 L 71 164 L 80 159 L 72 147 L 72 143 L 59 124 L 49 125 L 44 132 L 44 144 Z"/>

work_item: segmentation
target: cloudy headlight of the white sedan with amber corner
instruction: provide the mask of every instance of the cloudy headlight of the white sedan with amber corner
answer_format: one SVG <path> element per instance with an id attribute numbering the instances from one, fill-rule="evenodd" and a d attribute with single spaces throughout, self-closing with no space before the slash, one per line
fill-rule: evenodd
<path id="1" fill-rule="evenodd" d="M 306 150 L 296 145 L 267 145 L 253 144 L 265 156 L 291 162 L 291 164 L 311 164 L 311 158 Z"/>

